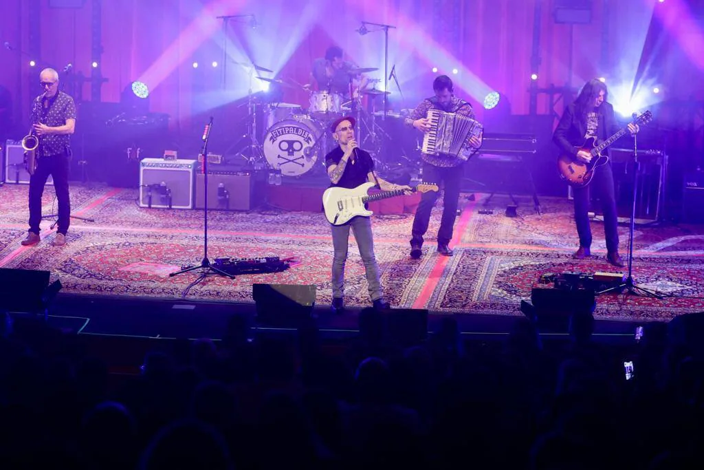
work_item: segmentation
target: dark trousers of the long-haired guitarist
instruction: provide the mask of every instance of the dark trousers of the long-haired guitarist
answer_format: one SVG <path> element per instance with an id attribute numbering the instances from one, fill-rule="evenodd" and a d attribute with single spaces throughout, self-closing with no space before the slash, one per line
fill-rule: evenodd
<path id="1" fill-rule="evenodd" d="M 577 223 L 579 246 L 591 246 L 591 227 L 589 225 L 589 190 L 596 191 L 601 200 L 601 210 L 604 215 L 604 235 L 606 249 L 609 253 L 618 252 L 618 214 L 616 211 L 616 197 L 614 194 L 614 177 L 611 163 L 598 166 L 594 176 L 586 187 L 572 188 L 574 196 L 574 222 Z"/>

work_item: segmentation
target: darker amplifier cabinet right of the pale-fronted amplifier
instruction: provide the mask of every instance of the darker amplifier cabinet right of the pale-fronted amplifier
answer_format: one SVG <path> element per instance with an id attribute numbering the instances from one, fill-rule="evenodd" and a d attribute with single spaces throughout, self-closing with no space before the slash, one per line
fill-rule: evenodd
<path id="1" fill-rule="evenodd" d="M 205 206 L 206 177 L 196 175 L 196 209 Z M 246 172 L 208 171 L 208 209 L 249 211 L 253 202 L 253 176 Z"/>

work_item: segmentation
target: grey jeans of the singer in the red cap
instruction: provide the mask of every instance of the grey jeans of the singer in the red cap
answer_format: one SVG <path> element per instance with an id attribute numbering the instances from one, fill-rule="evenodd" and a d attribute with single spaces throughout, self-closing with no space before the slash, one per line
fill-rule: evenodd
<path id="1" fill-rule="evenodd" d="M 345 261 L 350 228 L 354 233 L 359 254 L 364 262 L 369 285 L 369 297 L 372 302 L 382 297 L 382 283 L 379 280 L 379 266 L 374 256 L 374 237 L 372 221 L 369 217 L 357 216 L 344 225 L 330 225 L 332 229 L 332 297 L 343 297 L 345 280 Z"/>

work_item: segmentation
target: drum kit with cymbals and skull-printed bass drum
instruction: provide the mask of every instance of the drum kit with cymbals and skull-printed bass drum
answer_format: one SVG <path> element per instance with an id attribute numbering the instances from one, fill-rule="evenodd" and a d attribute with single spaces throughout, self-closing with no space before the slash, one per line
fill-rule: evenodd
<path id="1" fill-rule="evenodd" d="M 352 77 L 362 73 L 374 72 L 377 68 L 353 68 L 348 70 Z M 237 152 L 247 159 L 255 168 L 267 166 L 280 171 L 286 177 L 303 175 L 324 175 L 325 155 L 336 143 L 329 132 L 332 122 L 341 116 L 355 116 L 357 121 L 356 138 L 360 147 L 369 151 L 377 163 L 377 168 L 384 168 L 380 159 L 382 137 L 389 136 L 377 123 L 377 118 L 385 117 L 384 111 L 378 111 L 375 98 L 382 97 L 379 89 L 356 89 L 351 99 L 328 90 L 310 91 L 307 87 L 282 78 L 256 77 L 268 82 L 270 87 L 305 89 L 309 94 L 308 109 L 294 103 L 263 102 L 251 97 L 249 104 L 249 142 Z M 373 84 L 380 80 L 370 80 Z M 349 95 L 348 95 L 349 97 Z M 363 98 L 367 97 L 367 109 Z M 259 116 L 263 113 L 263 116 Z M 394 116 L 387 113 L 386 116 Z M 401 117 L 400 115 L 398 117 Z M 258 140 L 256 123 L 265 125 L 262 142 Z"/>

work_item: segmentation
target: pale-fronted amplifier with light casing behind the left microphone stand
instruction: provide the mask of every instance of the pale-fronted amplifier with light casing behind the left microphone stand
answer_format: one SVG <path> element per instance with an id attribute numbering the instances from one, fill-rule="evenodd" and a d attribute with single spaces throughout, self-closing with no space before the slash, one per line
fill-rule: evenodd
<path id="1" fill-rule="evenodd" d="M 139 206 L 193 209 L 195 160 L 139 162 Z"/>

